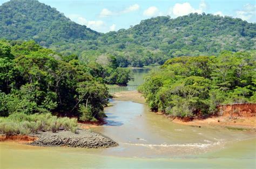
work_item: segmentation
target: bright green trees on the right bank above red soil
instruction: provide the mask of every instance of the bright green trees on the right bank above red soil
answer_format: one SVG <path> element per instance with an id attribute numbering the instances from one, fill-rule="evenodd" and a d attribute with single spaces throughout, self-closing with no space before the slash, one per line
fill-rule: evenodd
<path id="1" fill-rule="evenodd" d="M 179 117 L 215 114 L 220 104 L 256 102 L 255 51 L 167 60 L 139 88 L 153 111 Z"/>

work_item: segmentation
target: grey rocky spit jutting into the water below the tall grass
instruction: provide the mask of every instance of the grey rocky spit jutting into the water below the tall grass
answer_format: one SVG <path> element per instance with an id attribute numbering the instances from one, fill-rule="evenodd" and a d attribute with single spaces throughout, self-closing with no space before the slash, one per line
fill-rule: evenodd
<path id="1" fill-rule="evenodd" d="M 37 139 L 29 145 L 83 147 L 88 149 L 118 146 L 112 139 L 88 130 L 78 130 L 77 133 L 71 131 L 40 132 L 33 135 L 33 137 L 37 137 Z"/>

